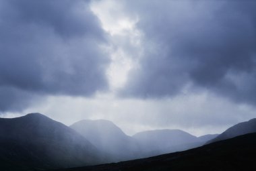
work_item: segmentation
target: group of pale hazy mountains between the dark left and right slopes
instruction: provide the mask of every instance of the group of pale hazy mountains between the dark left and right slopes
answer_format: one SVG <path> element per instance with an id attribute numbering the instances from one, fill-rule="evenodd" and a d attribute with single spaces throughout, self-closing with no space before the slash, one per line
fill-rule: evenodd
<path id="1" fill-rule="evenodd" d="M 126 135 L 117 125 L 104 119 L 77 121 L 70 126 L 99 150 L 110 154 L 115 161 L 131 160 L 202 146 L 216 135 L 195 137 L 179 129 L 142 131 Z"/>

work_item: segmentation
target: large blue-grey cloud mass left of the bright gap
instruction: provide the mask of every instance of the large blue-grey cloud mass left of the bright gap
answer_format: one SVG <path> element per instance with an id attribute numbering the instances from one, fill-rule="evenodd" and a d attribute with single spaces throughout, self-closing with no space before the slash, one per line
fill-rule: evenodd
<path id="1" fill-rule="evenodd" d="M 92 95 L 108 87 L 107 43 L 88 1 L 0 1 L 0 111 L 43 95 Z"/>

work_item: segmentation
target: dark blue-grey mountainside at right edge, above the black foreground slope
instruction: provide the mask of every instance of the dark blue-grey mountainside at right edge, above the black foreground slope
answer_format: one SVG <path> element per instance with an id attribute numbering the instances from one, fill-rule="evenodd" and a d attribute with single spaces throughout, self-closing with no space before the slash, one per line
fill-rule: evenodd
<path id="1" fill-rule="evenodd" d="M 215 141 L 220 141 L 223 139 L 229 139 L 232 137 L 236 137 L 238 135 L 244 135 L 247 133 L 253 133 L 256 132 L 256 118 L 251 119 L 249 121 L 238 123 L 215 137 L 214 139 L 211 139 L 210 141 L 207 141 L 207 144 L 210 144 Z"/>

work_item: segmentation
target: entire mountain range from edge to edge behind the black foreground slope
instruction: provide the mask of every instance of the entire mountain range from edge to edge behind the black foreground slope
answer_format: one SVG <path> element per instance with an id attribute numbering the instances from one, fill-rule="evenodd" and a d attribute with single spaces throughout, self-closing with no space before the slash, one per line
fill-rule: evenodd
<path id="1" fill-rule="evenodd" d="M 160 129 L 129 136 L 103 119 L 82 120 L 68 127 L 40 113 L 30 113 L 0 118 L 0 170 L 47 170 L 134 160 L 252 132 L 256 132 L 256 119 L 238 123 L 220 135 L 195 137 L 179 129 Z"/>

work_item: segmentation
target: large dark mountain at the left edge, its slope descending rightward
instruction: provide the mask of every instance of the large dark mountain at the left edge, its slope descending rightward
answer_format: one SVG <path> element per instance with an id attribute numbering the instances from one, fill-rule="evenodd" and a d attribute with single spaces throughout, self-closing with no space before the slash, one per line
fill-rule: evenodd
<path id="1" fill-rule="evenodd" d="M 0 170 L 67 168 L 107 162 L 73 129 L 40 113 L 0 118 Z"/>

